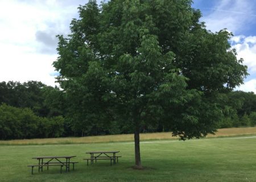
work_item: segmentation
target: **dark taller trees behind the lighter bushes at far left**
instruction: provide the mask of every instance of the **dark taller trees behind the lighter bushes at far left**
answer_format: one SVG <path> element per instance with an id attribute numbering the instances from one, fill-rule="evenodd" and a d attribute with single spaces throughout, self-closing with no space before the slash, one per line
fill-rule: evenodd
<path id="1" fill-rule="evenodd" d="M 64 94 L 59 88 L 44 85 L 40 81 L 0 82 L 0 104 L 28 107 L 41 117 L 63 115 Z"/>

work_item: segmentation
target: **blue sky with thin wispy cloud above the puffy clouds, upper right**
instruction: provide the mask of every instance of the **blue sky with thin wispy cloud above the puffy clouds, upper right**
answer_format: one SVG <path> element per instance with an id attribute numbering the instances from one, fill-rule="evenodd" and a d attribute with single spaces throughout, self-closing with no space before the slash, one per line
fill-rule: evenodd
<path id="1" fill-rule="evenodd" d="M 201 10 L 209 29 L 225 27 L 235 35 L 255 35 L 255 0 L 195 0 L 192 7 Z"/>

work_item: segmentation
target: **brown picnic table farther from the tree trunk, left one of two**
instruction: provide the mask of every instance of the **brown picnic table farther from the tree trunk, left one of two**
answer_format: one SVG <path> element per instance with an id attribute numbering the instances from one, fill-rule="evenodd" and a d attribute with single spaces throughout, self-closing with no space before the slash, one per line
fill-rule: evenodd
<path id="1" fill-rule="evenodd" d="M 32 167 L 32 174 L 33 174 L 33 168 L 38 167 L 38 172 L 43 171 L 43 167 L 47 167 L 47 170 L 49 166 L 60 166 L 60 172 L 62 172 L 62 167 L 65 166 L 66 172 L 69 172 L 70 164 L 73 164 L 73 170 L 75 163 L 78 162 L 71 162 L 71 158 L 75 158 L 75 155 L 72 156 L 38 156 L 34 157 L 32 159 L 37 159 L 38 164 L 36 165 L 29 165 L 28 167 Z M 45 159 L 45 160 L 44 160 Z M 64 159 L 64 160 L 63 160 Z"/>

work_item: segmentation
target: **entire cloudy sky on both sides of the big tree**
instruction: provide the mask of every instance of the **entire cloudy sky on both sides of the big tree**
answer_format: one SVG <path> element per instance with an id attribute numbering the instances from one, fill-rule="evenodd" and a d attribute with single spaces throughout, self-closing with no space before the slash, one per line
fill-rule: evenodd
<path id="1" fill-rule="evenodd" d="M 77 7 L 87 0 L 0 0 L 0 81 L 28 80 L 55 84 L 57 39 L 69 34 Z M 238 90 L 256 93 L 256 1 L 194 0 L 202 21 L 213 32 L 232 31 L 230 40 L 250 76 Z"/>

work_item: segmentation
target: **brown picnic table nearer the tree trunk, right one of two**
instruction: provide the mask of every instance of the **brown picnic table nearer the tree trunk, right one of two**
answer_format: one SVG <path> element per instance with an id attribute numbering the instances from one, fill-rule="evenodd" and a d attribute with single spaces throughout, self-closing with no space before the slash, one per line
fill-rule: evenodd
<path id="1" fill-rule="evenodd" d="M 117 156 L 115 154 L 117 154 L 119 151 L 89 151 L 86 152 L 86 154 L 90 154 L 90 158 L 88 159 L 84 159 L 87 160 L 87 166 L 89 164 L 89 160 L 90 160 L 90 164 L 97 162 L 97 160 L 110 160 L 110 164 L 112 165 L 112 160 L 113 160 L 113 164 L 115 164 L 116 162 L 118 162 L 118 158 L 121 158 L 121 156 Z"/>

